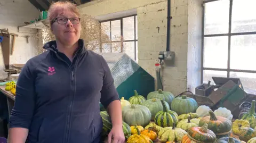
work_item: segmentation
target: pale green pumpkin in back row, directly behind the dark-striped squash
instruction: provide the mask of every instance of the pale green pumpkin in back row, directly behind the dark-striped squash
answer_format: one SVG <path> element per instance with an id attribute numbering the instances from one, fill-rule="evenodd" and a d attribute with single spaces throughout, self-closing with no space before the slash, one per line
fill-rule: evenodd
<path id="1" fill-rule="evenodd" d="M 163 91 L 162 89 L 158 89 L 158 91 L 150 92 L 147 95 L 147 99 L 153 99 L 153 98 L 163 99 L 171 107 L 171 103 L 174 98 L 174 95 L 172 94 L 172 92 Z"/>

